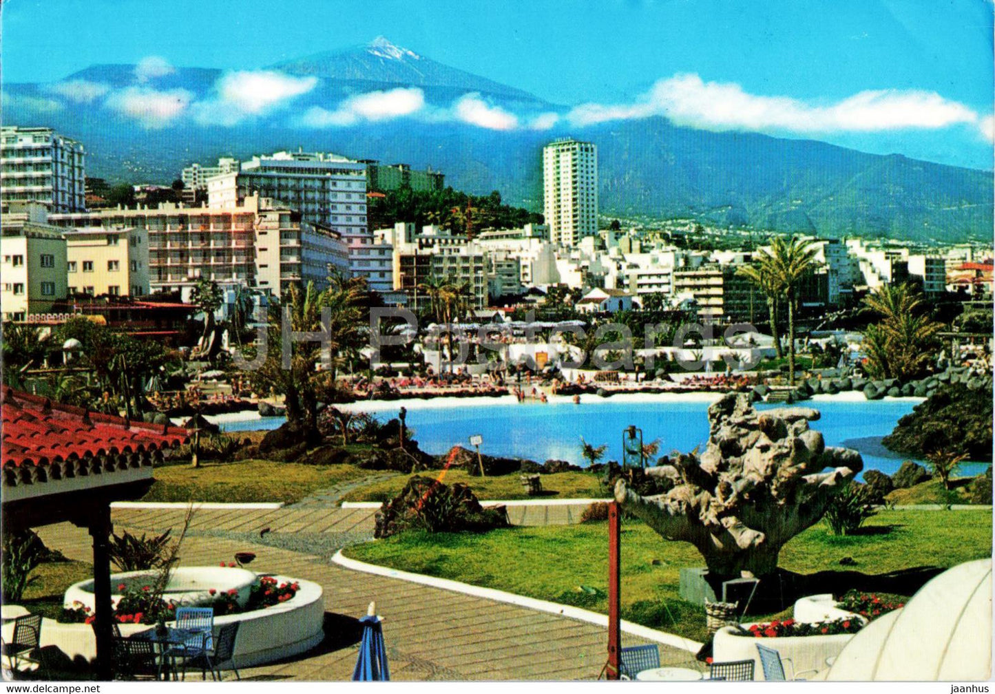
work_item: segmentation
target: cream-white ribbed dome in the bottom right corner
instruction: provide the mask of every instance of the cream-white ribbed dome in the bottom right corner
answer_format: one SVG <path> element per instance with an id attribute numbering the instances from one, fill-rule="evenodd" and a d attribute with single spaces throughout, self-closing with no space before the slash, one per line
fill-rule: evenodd
<path id="1" fill-rule="evenodd" d="M 935 577 L 861 629 L 827 680 L 987 680 L 992 665 L 992 561 Z"/>

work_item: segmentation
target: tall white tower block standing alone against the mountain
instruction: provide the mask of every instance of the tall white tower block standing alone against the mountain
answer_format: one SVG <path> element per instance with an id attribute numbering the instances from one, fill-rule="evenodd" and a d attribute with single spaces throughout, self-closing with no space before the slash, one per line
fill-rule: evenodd
<path id="1" fill-rule="evenodd" d="M 554 244 L 576 246 L 598 233 L 598 148 L 558 139 L 542 148 L 545 223 Z"/>

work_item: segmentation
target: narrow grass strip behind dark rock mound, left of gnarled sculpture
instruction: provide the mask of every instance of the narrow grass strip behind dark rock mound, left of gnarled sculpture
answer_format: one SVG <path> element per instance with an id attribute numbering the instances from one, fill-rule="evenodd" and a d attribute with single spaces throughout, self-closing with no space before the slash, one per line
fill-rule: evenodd
<path id="1" fill-rule="evenodd" d="M 518 473 L 498 475 L 494 477 L 474 477 L 466 470 L 450 469 L 443 474 L 442 470 L 426 470 L 418 474 L 424 477 L 440 478 L 446 484 L 463 482 L 470 485 L 479 499 L 527 499 L 530 498 L 521 486 Z M 407 484 L 411 475 L 398 475 L 369 486 L 354 489 L 345 495 L 344 501 L 385 501 L 397 496 Z M 556 472 L 542 475 L 542 489 L 546 496 L 539 498 L 581 498 L 592 499 L 607 497 L 607 491 L 602 491 L 598 483 L 598 475 L 591 472 Z M 535 497 L 531 497 L 535 498 Z"/>

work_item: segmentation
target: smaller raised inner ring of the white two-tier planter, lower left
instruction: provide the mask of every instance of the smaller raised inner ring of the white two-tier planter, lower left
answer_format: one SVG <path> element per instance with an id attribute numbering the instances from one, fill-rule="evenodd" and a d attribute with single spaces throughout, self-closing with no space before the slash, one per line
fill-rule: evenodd
<path id="1" fill-rule="evenodd" d="M 128 571 L 121 574 L 110 575 L 110 603 L 117 607 L 117 601 L 121 599 L 117 587 L 123 584 L 126 590 L 138 590 L 151 585 L 155 581 L 156 575 L 150 571 Z M 247 569 L 235 569 L 231 567 L 180 567 L 169 572 L 169 582 L 166 590 L 162 594 L 162 600 L 166 603 L 183 605 L 187 607 L 198 607 L 210 605 L 215 596 L 210 591 L 214 590 L 216 595 L 235 590 L 235 602 L 241 607 L 245 607 L 249 602 L 249 591 L 256 581 L 256 574 Z M 94 580 L 81 581 L 73 584 L 66 591 L 63 598 L 63 607 L 79 607 L 75 604 L 94 608 Z"/>

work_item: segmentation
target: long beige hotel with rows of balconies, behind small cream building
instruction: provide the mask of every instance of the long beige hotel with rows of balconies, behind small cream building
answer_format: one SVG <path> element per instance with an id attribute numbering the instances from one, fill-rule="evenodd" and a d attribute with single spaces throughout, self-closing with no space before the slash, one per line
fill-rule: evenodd
<path id="1" fill-rule="evenodd" d="M 244 285 L 281 296 L 292 283 L 327 284 L 331 271 L 348 271 L 341 237 L 268 198 L 248 196 L 229 207 L 107 209 L 54 215 L 66 228 L 134 228 L 148 238 L 149 284 L 153 291 L 179 290 L 187 299 L 203 277 L 223 289 Z"/>

